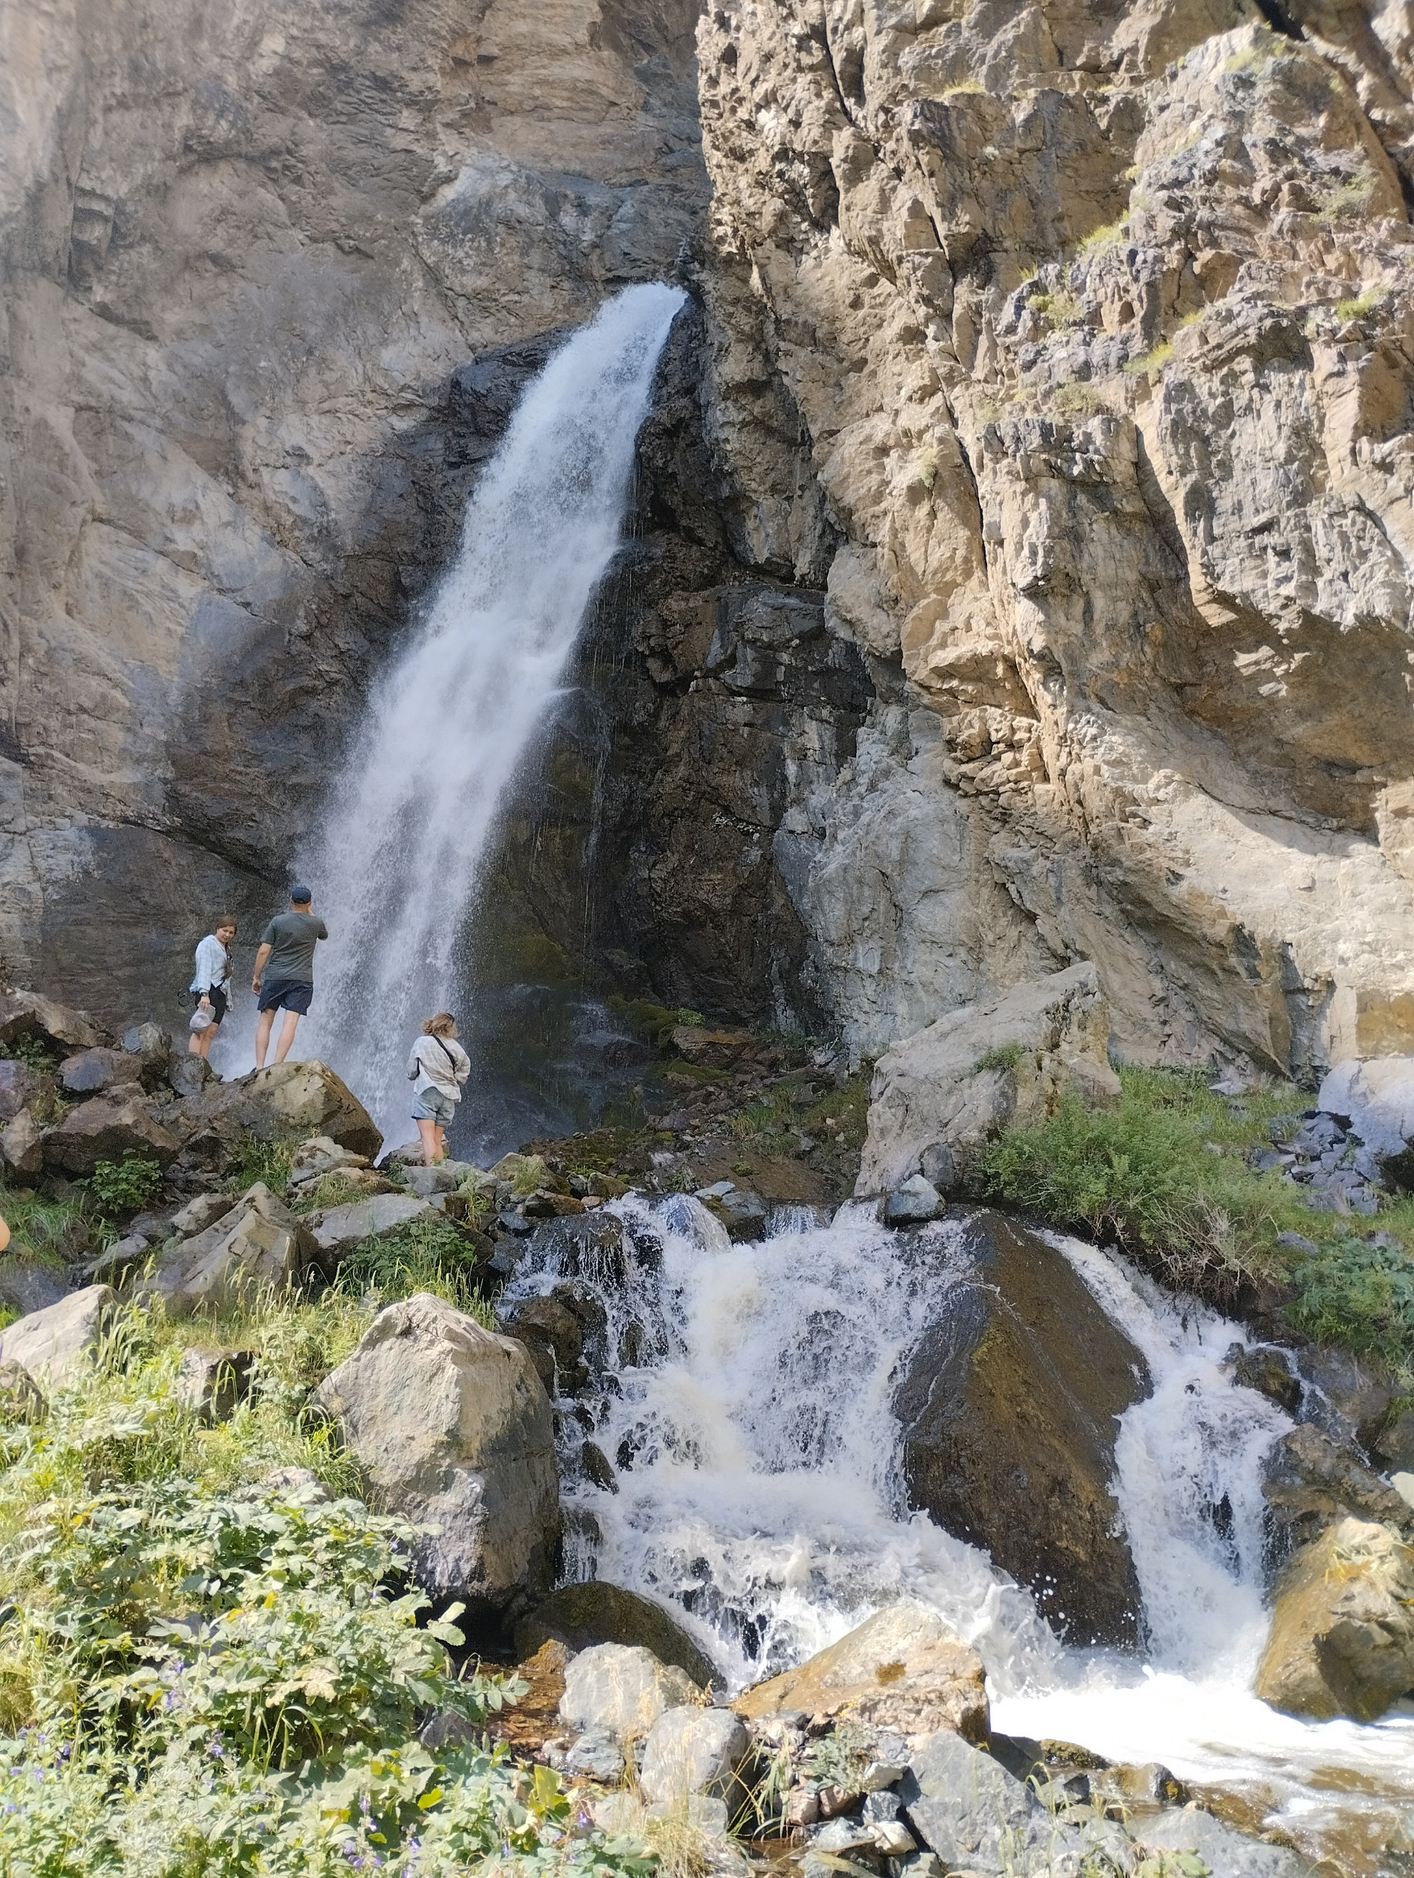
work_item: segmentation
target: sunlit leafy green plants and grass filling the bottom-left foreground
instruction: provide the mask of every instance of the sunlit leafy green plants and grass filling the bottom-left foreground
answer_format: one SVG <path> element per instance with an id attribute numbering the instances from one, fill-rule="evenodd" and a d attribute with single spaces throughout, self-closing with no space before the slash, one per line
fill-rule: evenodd
<path id="1" fill-rule="evenodd" d="M 428 1621 L 419 1534 L 370 1512 L 308 1388 L 364 1322 L 270 1301 L 255 1395 L 203 1427 L 180 1333 L 126 1313 L 36 1424 L 0 1424 L 0 1842 L 15 1878 L 648 1878 L 556 1777 L 473 1730 L 524 1685 L 458 1673 L 460 1606 Z M 327 1495 L 272 1484 L 310 1467 Z"/>

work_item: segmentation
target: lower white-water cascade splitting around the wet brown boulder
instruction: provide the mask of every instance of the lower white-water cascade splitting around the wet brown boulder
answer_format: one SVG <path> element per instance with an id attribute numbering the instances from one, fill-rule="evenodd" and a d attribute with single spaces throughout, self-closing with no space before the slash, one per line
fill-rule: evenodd
<path id="1" fill-rule="evenodd" d="M 1243 1790 L 1311 1852 L 1360 1842 L 1371 1855 L 1350 1869 L 1380 1869 L 1414 1809 L 1414 1713 L 1311 1724 L 1251 1694 L 1266 1636 L 1260 1461 L 1292 1424 L 1221 1367 L 1239 1326 L 1053 1241 L 1153 1377 L 1123 1416 L 1115 1478 L 1147 1655 L 1067 1649 L 986 1553 L 907 1514 L 892 1397 L 967 1271 L 956 1224 L 898 1236 L 849 1206 L 834 1224 L 798 1213 L 732 1245 L 693 1200 L 631 1196 L 614 1211 L 623 1270 L 561 1270 L 550 1255 L 507 1292 L 588 1281 L 607 1315 L 595 1354 L 618 1386 L 563 1418 L 571 1576 L 674 1606 L 734 1686 L 920 1598 L 982 1653 L 993 1726 Z M 616 1493 L 578 1476 L 588 1420 Z"/>

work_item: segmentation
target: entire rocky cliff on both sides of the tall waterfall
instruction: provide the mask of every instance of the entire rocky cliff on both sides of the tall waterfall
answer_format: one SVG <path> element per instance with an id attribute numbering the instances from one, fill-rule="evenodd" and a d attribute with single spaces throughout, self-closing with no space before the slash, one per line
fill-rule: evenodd
<path id="1" fill-rule="evenodd" d="M 468 359 L 678 267 L 593 969 L 864 1054 L 1072 958 L 1136 1057 L 1410 1046 L 1403 9 L 697 11 L 0 13 L 9 958 L 263 905 Z"/>

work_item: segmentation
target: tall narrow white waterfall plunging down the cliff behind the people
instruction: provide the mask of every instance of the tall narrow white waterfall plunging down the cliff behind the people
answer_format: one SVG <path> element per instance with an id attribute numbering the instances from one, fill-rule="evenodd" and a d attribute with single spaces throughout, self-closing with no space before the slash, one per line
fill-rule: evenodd
<path id="1" fill-rule="evenodd" d="M 297 1052 L 332 1063 L 394 1142 L 411 1132 L 407 1048 L 423 1016 L 456 1007 L 488 836 L 620 545 L 635 438 L 684 299 L 627 287 L 530 383 L 297 860 L 329 924 Z"/>

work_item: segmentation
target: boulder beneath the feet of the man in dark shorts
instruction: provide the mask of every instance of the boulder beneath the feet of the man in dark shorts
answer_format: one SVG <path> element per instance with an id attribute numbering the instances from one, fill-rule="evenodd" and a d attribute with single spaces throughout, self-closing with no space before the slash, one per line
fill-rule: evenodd
<path id="1" fill-rule="evenodd" d="M 357 1095 L 314 1057 L 272 1063 L 201 1089 L 184 1104 L 182 1127 L 186 1159 L 210 1166 L 231 1161 L 248 1136 L 304 1142 L 321 1134 L 370 1161 L 383 1146 Z"/>

